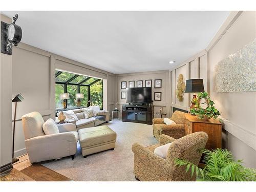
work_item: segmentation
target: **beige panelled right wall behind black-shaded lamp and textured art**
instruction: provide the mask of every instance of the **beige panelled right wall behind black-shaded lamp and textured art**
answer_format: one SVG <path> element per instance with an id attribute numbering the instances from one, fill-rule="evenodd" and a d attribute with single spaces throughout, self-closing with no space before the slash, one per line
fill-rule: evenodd
<path id="1" fill-rule="evenodd" d="M 256 168 L 256 94 L 255 92 L 217 93 L 215 91 L 215 66 L 256 37 L 256 12 L 231 12 L 206 50 L 187 59 L 170 70 L 172 106 L 189 109 L 191 95 L 184 94 L 184 101 L 175 96 L 177 76 L 185 79 L 202 78 L 204 89 L 216 103 L 223 121 L 222 147 L 230 150 L 244 165 Z"/>

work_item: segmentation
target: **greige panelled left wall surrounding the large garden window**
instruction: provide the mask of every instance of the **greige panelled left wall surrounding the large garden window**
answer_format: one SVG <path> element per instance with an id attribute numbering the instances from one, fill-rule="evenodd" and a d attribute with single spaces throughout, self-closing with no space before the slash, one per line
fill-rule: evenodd
<path id="1" fill-rule="evenodd" d="M 14 47 L 12 64 L 12 97 L 18 93 L 24 96 L 17 107 L 15 157 L 26 153 L 21 121 L 24 114 L 37 111 L 45 120 L 55 119 L 55 69 L 103 79 L 104 85 L 108 84 L 105 87 L 110 88 L 104 88 L 104 109 L 113 108 L 115 97 L 112 84 L 115 78 L 111 73 L 23 43 Z"/>

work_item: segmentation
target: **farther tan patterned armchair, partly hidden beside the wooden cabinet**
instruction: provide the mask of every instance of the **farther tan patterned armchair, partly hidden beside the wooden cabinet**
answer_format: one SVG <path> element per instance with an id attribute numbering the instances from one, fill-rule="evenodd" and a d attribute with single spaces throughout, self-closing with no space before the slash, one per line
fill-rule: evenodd
<path id="1" fill-rule="evenodd" d="M 162 134 L 168 135 L 175 139 L 179 139 L 185 136 L 185 114 L 181 111 L 175 111 L 170 118 L 177 124 L 167 125 L 163 122 L 163 119 L 153 119 L 153 135 L 159 141 L 159 137 Z"/>

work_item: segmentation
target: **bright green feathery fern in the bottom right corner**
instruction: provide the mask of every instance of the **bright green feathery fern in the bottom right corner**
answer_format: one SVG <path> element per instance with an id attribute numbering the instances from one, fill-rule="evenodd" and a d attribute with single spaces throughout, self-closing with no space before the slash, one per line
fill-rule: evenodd
<path id="1" fill-rule="evenodd" d="M 177 166 L 186 166 L 186 172 L 190 169 L 191 177 L 196 174 L 198 181 L 256 181 L 256 170 L 242 166 L 242 160 L 234 160 L 227 149 L 204 150 L 203 154 L 203 169 L 181 159 L 176 159 L 175 163 Z"/>

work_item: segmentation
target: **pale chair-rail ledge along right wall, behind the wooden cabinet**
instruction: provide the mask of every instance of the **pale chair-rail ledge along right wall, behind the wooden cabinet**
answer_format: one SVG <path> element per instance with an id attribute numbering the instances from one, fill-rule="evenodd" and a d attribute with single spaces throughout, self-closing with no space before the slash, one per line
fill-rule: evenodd
<path id="1" fill-rule="evenodd" d="M 231 123 L 230 121 L 219 118 L 222 121 L 222 129 L 226 130 L 228 133 L 232 134 L 234 137 L 243 141 L 245 144 L 253 148 L 256 151 L 256 135 L 243 129 L 242 127 Z"/>

